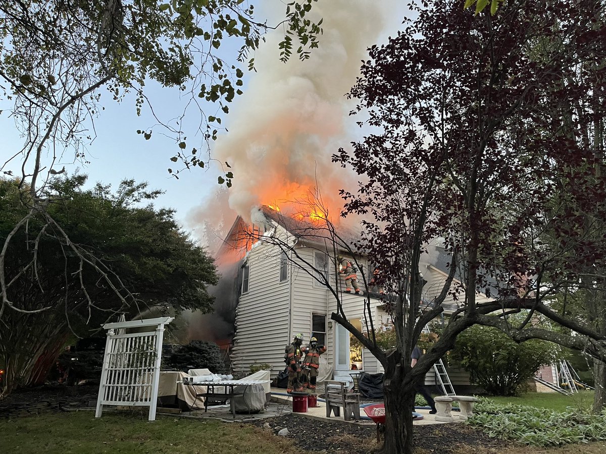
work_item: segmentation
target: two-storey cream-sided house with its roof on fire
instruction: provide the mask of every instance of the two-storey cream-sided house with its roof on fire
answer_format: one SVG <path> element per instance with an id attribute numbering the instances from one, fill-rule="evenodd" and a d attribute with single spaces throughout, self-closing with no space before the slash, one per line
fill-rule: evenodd
<path id="1" fill-rule="evenodd" d="M 336 312 L 335 296 L 310 275 L 312 271 L 306 270 L 311 270 L 312 266 L 324 270 L 331 286 L 339 289 L 339 298 L 348 320 L 359 328 L 363 328 L 365 323 L 365 298 L 370 298 L 370 314 L 366 317 L 372 318 L 375 327 L 390 320 L 382 309 L 383 301 L 379 295 L 356 295 L 342 291 L 344 285 L 336 270 L 336 254 L 327 238 L 322 235 L 293 234 L 295 229 L 289 229 L 288 221 L 284 222 L 286 217 L 276 221 L 276 216 L 271 215 L 268 208 L 261 213 L 264 217 L 258 223 L 253 221 L 252 226 L 241 218 L 237 219 L 223 249 L 224 253 L 230 250 L 241 252 L 237 277 L 241 291 L 230 354 L 234 372 L 246 374 L 252 364 L 268 363 L 271 377 L 275 378 L 285 367 L 284 347 L 299 332 L 305 335 L 304 344 L 315 336 L 319 343 L 327 346 L 327 352 L 321 357 L 320 378 L 351 382 L 349 374 L 352 363 L 368 373 L 383 372 L 379 361 L 367 349 L 363 349 L 360 357 L 356 358 L 357 352 L 350 350 L 350 334 L 330 320 L 330 314 Z M 291 220 L 290 226 L 293 223 L 296 221 Z M 270 238 L 279 238 L 290 248 L 281 248 Z M 246 251 L 245 254 L 242 251 Z M 441 291 L 447 277 L 445 263 L 441 263 L 447 260 L 447 256 L 439 251 L 439 247 L 436 251 L 436 254 L 427 255 L 420 270 L 427 280 L 424 287 L 424 299 L 427 301 Z M 347 257 L 342 251 L 338 253 Z M 370 276 L 370 264 L 364 258 L 358 258 L 358 263 L 365 267 L 366 275 Z M 449 298 L 444 303 L 446 312 L 457 308 L 456 301 Z M 483 294 L 479 294 L 478 298 L 489 299 Z M 448 369 L 448 373 L 455 389 L 469 386 L 467 372 Z M 433 371 L 427 374 L 425 383 L 436 383 Z"/>

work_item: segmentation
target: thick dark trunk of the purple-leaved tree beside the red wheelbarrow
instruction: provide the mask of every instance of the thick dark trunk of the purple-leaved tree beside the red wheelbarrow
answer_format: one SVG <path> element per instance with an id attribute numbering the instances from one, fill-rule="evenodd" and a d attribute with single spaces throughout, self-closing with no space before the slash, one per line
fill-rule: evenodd
<path id="1" fill-rule="evenodd" d="M 385 442 L 379 452 L 412 454 L 415 388 L 402 380 L 385 380 Z"/>

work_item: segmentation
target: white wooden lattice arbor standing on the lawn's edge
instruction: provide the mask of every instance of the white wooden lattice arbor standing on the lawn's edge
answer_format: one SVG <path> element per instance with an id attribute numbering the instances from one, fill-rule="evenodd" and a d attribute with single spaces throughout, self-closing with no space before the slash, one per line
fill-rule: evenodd
<path id="1" fill-rule="evenodd" d="M 155 421 L 164 326 L 173 320 L 162 317 L 103 325 L 107 341 L 95 418 L 101 417 L 104 405 L 148 406 L 148 419 Z M 147 330 L 127 333 L 141 328 Z"/>

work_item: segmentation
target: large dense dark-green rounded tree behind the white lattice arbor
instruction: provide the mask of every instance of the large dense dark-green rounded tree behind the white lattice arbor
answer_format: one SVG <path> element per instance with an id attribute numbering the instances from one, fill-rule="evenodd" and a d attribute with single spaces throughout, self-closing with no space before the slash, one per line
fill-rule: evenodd
<path id="1" fill-rule="evenodd" d="M 4 392 L 44 380 L 68 337 L 88 337 L 119 312 L 212 310 L 213 259 L 181 231 L 173 211 L 151 205 L 159 191 L 132 180 L 115 192 L 101 183 L 82 189 L 85 182 L 83 175 L 54 179 L 46 209 L 5 245 L 15 309 L 0 321 Z M 19 186 L 0 180 L 2 239 L 28 211 L 30 192 Z"/>

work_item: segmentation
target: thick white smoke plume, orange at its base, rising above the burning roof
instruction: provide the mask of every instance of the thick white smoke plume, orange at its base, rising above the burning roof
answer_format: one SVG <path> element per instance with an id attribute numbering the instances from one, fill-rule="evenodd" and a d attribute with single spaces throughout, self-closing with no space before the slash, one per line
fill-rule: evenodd
<path id="1" fill-rule="evenodd" d="M 282 11 L 278 5 L 275 10 Z M 394 1 L 321 0 L 313 12 L 324 19 L 320 47 L 307 61 L 293 55 L 283 64 L 277 50 L 281 30 L 271 33 L 255 56 L 258 73 L 231 108 L 229 132 L 213 151 L 231 165 L 229 204 L 245 219 L 252 206 L 305 196 L 316 179 L 330 206 L 341 206 L 338 189 L 355 182 L 330 159 L 352 140 L 344 134 L 351 107 L 344 95 L 366 49 L 385 27 L 396 30 L 401 17 L 396 19 Z"/>

